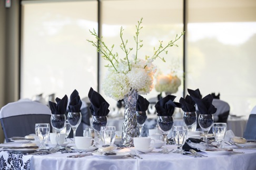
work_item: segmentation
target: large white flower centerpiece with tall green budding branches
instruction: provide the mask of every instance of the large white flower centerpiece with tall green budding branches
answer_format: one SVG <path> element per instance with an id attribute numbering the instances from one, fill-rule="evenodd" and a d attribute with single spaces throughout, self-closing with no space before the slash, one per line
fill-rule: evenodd
<path id="1" fill-rule="evenodd" d="M 127 40 L 123 40 L 123 27 L 120 29 L 121 37 L 121 49 L 125 53 L 123 59 L 119 59 L 117 53 L 113 53 L 114 45 L 111 48 L 107 47 L 102 41 L 102 37 L 99 37 L 95 30 L 90 31 L 90 33 L 96 38 L 96 41 L 88 40 L 93 46 L 97 48 L 97 51 L 102 54 L 102 57 L 109 61 L 110 64 L 106 65 L 108 67 L 107 73 L 105 75 L 105 80 L 102 84 L 102 89 L 106 96 L 114 98 L 116 101 L 123 99 L 125 95 L 129 94 L 131 89 L 135 89 L 137 93 L 141 95 L 148 94 L 153 88 L 153 76 L 156 72 L 156 66 L 153 65 L 153 61 L 158 57 L 165 62 L 164 57 L 160 57 L 159 54 L 165 52 L 167 47 L 178 46 L 175 44 L 178 39 L 184 35 L 184 32 L 180 36 L 176 35 L 175 41 L 170 41 L 166 46 L 163 46 L 162 41 L 160 41 L 159 47 L 154 48 L 154 54 L 152 57 L 145 56 L 145 59 L 138 58 L 138 51 L 143 46 L 142 40 L 139 40 L 139 31 L 142 29 L 141 23 L 142 19 L 138 21 L 136 25 L 136 35 L 134 36 L 134 41 L 136 45 L 135 54 L 129 58 L 130 52 L 133 48 L 127 48 Z M 98 43 L 99 42 L 99 43 Z"/>

